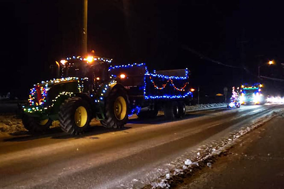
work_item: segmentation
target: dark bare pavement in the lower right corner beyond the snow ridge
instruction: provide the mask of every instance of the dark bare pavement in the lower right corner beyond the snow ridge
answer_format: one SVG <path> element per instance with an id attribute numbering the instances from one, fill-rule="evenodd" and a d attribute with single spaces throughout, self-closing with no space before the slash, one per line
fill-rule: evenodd
<path id="1" fill-rule="evenodd" d="M 283 126 L 284 117 L 270 120 L 175 189 L 284 188 Z"/>

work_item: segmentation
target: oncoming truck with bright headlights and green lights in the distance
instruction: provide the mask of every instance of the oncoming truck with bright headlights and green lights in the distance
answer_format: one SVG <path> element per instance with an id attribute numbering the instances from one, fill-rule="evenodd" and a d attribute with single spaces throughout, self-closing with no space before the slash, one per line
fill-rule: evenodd
<path id="1" fill-rule="evenodd" d="M 241 85 L 240 102 L 244 105 L 264 104 L 265 97 L 263 94 L 263 84 L 255 83 L 253 85 Z"/>

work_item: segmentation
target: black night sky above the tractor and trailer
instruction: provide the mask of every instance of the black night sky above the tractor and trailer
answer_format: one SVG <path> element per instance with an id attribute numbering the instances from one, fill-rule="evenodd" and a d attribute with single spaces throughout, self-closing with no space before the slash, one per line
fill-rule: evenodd
<path id="1" fill-rule="evenodd" d="M 32 84 L 48 78 L 50 64 L 80 53 L 82 1 L 1 4 L 0 92 L 26 98 Z M 209 95 L 222 93 L 225 86 L 256 82 L 258 64 L 270 59 L 277 65 L 263 66 L 261 74 L 284 79 L 282 7 L 273 1 L 89 0 L 88 50 L 116 64 L 188 67 L 193 87 Z M 187 47 L 246 71 L 201 59 Z M 270 83 L 275 88 L 284 84 Z"/>

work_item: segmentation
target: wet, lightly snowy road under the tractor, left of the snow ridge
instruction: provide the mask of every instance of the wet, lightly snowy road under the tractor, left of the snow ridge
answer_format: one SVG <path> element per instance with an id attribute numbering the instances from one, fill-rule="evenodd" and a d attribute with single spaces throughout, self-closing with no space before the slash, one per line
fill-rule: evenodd
<path id="1" fill-rule="evenodd" d="M 140 188 L 172 160 L 283 105 L 189 112 L 185 119 L 131 119 L 122 131 L 93 126 L 80 137 L 58 128 L 0 139 L 0 188 Z"/>

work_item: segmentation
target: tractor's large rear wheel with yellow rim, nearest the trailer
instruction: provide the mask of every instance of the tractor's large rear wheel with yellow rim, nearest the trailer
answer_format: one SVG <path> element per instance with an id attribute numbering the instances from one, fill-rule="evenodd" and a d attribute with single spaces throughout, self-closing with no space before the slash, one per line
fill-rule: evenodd
<path id="1" fill-rule="evenodd" d="M 121 87 L 111 90 L 105 102 L 105 119 L 101 124 L 106 128 L 123 128 L 128 120 L 129 100 L 126 91 Z"/>

